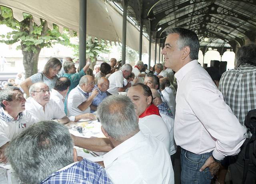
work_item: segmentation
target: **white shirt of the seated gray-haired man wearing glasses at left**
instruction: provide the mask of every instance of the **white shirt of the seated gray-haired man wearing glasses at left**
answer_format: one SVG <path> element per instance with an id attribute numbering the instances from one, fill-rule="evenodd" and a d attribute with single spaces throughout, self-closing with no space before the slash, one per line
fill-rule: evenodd
<path id="1" fill-rule="evenodd" d="M 26 110 L 36 119 L 37 122 L 52 119 L 61 119 L 66 116 L 65 112 L 60 109 L 54 100 L 50 100 L 43 106 L 40 105 L 31 96 L 27 99 Z"/>

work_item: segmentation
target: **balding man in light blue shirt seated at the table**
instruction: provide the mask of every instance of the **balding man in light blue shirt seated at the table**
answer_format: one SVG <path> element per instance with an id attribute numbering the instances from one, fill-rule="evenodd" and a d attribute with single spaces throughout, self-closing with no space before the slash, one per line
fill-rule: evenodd
<path id="1" fill-rule="evenodd" d="M 98 95 L 92 100 L 92 104 L 90 105 L 91 112 L 94 112 L 97 110 L 97 107 L 102 102 L 104 98 L 107 97 L 106 91 L 109 88 L 109 81 L 105 77 L 101 77 L 98 80 L 98 83 L 95 85 L 95 88 L 98 89 L 99 93 Z M 91 96 L 92 93 L 89 93 L 89 96 Z"/>

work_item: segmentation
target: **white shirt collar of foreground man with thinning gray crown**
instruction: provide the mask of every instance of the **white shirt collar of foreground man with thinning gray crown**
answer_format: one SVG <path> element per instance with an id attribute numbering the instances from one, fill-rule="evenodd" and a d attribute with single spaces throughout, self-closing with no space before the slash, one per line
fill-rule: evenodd
<path id="1" fill-rule="evenodd" d="M 141 131 L 139 131 L 137 134 L 135 134 L 131 138 L 128 138 L 127 140 L 125 140 L 124 142 L 116 146 L 114 149 L 104 154 L 103 162 L 104 162 L 105 168 L 108 167 L 112 162 L 114 162 L 119 156 L 125 154 L 126 152 L 129 152 L 131 148 L 136 146 L 138 142 L 140 142 L 144 138 L 145 136 L 142 134 Z"/>

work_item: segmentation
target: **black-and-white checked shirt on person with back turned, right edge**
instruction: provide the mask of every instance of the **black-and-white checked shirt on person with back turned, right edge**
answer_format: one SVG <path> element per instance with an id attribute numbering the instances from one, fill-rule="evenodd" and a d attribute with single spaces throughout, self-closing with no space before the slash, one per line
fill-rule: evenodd
<path id="1" fill-rule="evenodd" d="M 244 126 L 248 111 L 256 108 L 256 66 L 243 64 L 222 74 L 219 90 L 234 115 Z M 248 132 L 247 137 L 251 134 Z"/>

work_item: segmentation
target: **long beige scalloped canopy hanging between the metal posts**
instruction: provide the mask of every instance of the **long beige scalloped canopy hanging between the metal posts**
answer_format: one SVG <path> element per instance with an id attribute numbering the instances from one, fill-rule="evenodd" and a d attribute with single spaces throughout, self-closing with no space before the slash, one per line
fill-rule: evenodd
<path id="1" fill-rule="evenodd" d="M 111 42 L 122 42 L 122 15 L 111 3 L 87 0 L 86 34 Z M 64 27 L 70 30 L 70 34 L 73 34 L 73 30 L 79 31 L 79 0 L 0 0 L 0 6 L 12 8 L 13 16 L 19 22 L 24 19 L 23 12 L 26 12 L 33 16 L 38 25 L 42 18 L 47 20 L 50 29 L 54 23 L 59 26 L 60 32 Z M 138 28 L 127 21 L 126 45 L 138 51 L 139 35 Z M 143 36 L 142 52 L 148 53 L 148 44 L 148 39 Z M 151 48 L 151 58 L 154 59 L 154 44 Z"/>

